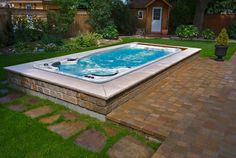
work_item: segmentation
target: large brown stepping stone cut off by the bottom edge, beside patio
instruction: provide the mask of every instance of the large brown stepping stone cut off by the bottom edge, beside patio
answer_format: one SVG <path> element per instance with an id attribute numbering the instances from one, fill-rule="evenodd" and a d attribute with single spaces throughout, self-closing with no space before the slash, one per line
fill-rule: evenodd
<path id="1" fill-rule="evenodd" d="M 126 136 L 113 145 L 108 154 L 111 158 L 130 158 L 131 155 L 132 158 L 150 158 L 154 150 L 133 137 Z"/>

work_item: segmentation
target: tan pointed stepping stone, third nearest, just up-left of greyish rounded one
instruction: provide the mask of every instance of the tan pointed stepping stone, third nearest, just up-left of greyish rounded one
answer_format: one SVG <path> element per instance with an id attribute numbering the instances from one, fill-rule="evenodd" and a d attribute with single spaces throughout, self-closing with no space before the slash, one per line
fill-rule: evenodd
<path id="1" fill-rule="evenodd" d="M 86 124 L 83 122 L 61 122 L 48 126 L 48 129 L 59 134 L 63 138 L 69 138 L 86 127 Z"/>

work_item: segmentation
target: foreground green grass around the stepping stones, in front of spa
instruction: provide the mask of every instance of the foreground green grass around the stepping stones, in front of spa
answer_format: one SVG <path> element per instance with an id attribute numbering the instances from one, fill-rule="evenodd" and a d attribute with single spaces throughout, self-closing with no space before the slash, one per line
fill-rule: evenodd
<path id="1" fill-rule="evenodd" d="M 61 105 L 55 104 L 51 101 L 38 98 L 38 102 L 34 105 L 27 103 L 32 96 L 24 95 L 19 99 L 11 101 L 9 103 L 0 105 L 0 155 L 4 158 L 25 158 L 25 157 L 108 157 L 108 150 L 116 142 L 126 135 L 132 135 L 136 139 L 145 143 L 153 149 L 159 147 L 159 143 L 151 142 L 145 139 L 145 137 L 133 130 L 121 127 L 110 121 L 100 122 L 97 119 L 78 114 L 79 121 L 87 124 L 86 129 L 95 128 L 107 137 L 105 147 L 101 152 L 95 153 L 84 148 L 77 146 L 74 141 L 75 138 L 86 129 L 80 131 L 76 135 L 69 139 L 63 139 L 61 136 L 53 133 L 47 129 L 47 125 L 39 122 L 40 118 L 46 116 L 52 116 L 58 114 L 61 111 L 68 111 Z M 31 119 L 22 113 L 9 110 L 7 107 L 14 104 L 23 104 L 27 107 L 27 110 L 34 109 L 40 106 L 48 105 L 54 112 L 45 116 Z M 60 118 L 58 122 L 64 121 Z M 54 123 L 55 124 L 55 123 Z M 116 131 L 116 135 L 113 137 L 108 136 L 105 132 L 105 127 L 112 128 Z"/>

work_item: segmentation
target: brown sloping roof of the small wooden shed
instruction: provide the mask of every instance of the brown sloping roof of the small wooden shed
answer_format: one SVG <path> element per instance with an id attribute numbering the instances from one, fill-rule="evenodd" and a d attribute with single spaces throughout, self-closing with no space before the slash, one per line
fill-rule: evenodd
<path id="1" fill-rule="evenodd" d="M 130 8 L 146 8 L 152 3 L 154 3 L 156 0 L 131 0 Z M 170 3 L 166 0 L 161 0 L 164 3 L 166 3 L 169 7 L 171 7 Z"/>

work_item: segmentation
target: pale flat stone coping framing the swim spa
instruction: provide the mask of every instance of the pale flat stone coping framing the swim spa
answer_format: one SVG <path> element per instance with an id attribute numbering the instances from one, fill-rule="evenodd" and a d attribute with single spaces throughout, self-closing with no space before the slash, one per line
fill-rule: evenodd
<path id="1" fill-rule="evenodd" d="M 121 76 L 119 78 L 116 78 L 114 80 L 111 80 L 109 82 L 105 83 L 92 83 L 89 81 L 81 80 L 79 78 L 66 76 L 54 72 L 49 72 L 45 70 L 40 70 L 37 68 L 34 68 L 35 64 L 40 64 L 42 62 L 48 63 L 54 60 L 61 60 L 65 57 L 67 58 L 73 58 L 73 57 L 84 57 L 93 53 L 97 53 L 100 51 L 109 51 L 112 49 L 116 49 L 119 47 L 123 47 L 130 44 L 144 44 L 144 45 L 151 45 L 151 46 L 161 46 L 161 47 L 171 47 L 171 48 L 180 48 L 182 51 L 180 53 L 176 53 L 172 56 L 169 56 L 167 58 L 164 58 L 158 62 L 154 62 L 150 65 L 147 65 L 145 67 L 142 67 L 136 71 L 133 71 L 129 74 L 126 74 L 124 76 Z M 120 94 L 121 92 L 141 83 L 142 81 L 145 81 L 149 77 L 152 77 L 163 70 L 181 62 L 184 59 L 187 59 L 188 57 L 191 57 L 192 55 L 200 52 L 201 49 L 199 48 L 189 48 L 189 47 L 178 47 L 178 46 L 169 46 L 169 45 L 160 45 L 160 44 L 150 44 L 150 43 L 128 43 L 128 44 L 122 44 L 117 46 L 111 46 L 107 48 L 100 48 L 96 50 L 71 54 L 67 56 L 61 56 L 56 58 L 50 58 L 15 66 L 9 66 L 5 67 L 5 70 L 14 72 L 17 74 L 20 74 L 22 76 L 34 78 L 37 80 L 41 80 L 44 82 L 52 83 L 61 87 L 69 88 L 78 92 L 82 92 L 88 95 L 92 95 L 104 100 L 109 100 L 112 97 Z"/>

